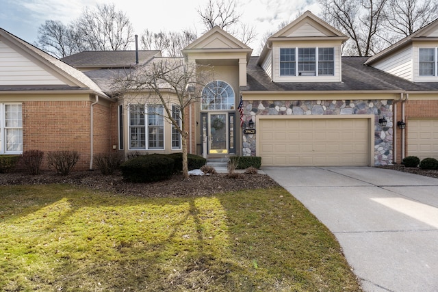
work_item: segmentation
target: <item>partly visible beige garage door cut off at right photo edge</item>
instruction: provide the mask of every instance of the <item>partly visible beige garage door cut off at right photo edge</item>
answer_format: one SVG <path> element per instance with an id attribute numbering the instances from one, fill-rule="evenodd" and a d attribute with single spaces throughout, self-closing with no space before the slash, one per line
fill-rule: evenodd
<path id="1" fill-rule="evenodd" d="M 438 119 L 409 119 L 408 155 L 438 159 Z"/>

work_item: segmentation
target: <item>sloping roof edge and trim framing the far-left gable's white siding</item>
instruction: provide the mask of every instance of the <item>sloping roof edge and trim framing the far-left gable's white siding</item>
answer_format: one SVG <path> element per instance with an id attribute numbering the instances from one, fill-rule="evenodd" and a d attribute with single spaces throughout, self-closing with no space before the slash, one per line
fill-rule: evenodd
<path id="1" fill-rule="evenodd" d="M 91 90 L 94 93 L 99 94 L 100 96 L 108 97 L 105 93 L 102 92 L 99 86 L 96 85 L 96 83 L 94 83 L 94 81 L 92 81 L 86 75 L 84 75 L 83 72 L 60 61 L 60 59 L 57 59 L 49 55 L 48 53 L 41 51 L 40 49 L 34 47 L 28 42 L 21 40 L 21 38 L 18 38 L 1 28 L 0 38 L 2 39 L 2 41 L 11 44 L 14 49 L 18 50 L 20 53 L 26 55 L 27 58 L 33 60 L 34 62 L 42 63 L 44 66 L 47 66 L 48 68 L 53 70 L 55 74 L 58 74 L 60 75 L 60 77 L 66 79 L 68 81 L 68 84 L 62 87 L 62 90 Z M 9 89 L 6 89 L 6 87 L 8 87 Z M 51 86 L 50 84 L 38 86 L 0 86 L 1 91 L 60 90 L 60 88 L 61 87 L 59 85 Z"/>

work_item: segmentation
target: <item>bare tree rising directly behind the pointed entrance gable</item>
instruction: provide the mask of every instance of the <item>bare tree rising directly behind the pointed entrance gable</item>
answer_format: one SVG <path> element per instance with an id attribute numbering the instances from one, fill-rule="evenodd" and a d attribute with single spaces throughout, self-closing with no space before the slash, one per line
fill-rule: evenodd
<path id="1" fill-rule="evenodd" d="M 244 44 L 249 44 L 257 36 L 254 26 L 241 23 L 242 13 L 237 11 L 235 0 L 209 0 L 207 5 L 198 8 L 197 12 L 207 31 L 218 26 Z"/>

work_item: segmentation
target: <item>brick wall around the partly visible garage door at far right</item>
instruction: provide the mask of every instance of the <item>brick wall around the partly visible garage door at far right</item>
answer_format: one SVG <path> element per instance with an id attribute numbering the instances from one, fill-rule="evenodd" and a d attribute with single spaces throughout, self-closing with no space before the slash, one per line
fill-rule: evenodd
<path id="1" fill-rule="evenodd" d="M 402 120 L 402 103 L 397 103 L 397 116 L 394 120 L 394 129 L 396 129 L 396 163 L 402 162 L 402 130 L 398 129 L 397 121 Z M 409 118 L 438 118 L 438 101 L 412 101 L 408 100 L 404 103 L 404 122 L 406 129 L 404 130 L 404 157 L 408 153 L 407 129 L 409 127 Z"/>

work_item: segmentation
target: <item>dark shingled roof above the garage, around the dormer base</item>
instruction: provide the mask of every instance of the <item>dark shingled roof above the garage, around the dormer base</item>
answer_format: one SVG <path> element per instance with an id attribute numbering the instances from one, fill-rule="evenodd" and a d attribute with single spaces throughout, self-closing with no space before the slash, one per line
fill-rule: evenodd
<path id="1" fill-rule="evenodd" d="M 438 84 L 413 83 L 382 70 L 363 65 L 369 57 L 342 57 L 342 82 L 272 82 L 251 57 L 247 67 L 247 86 L 243 91 L 435 91 Z"/>

